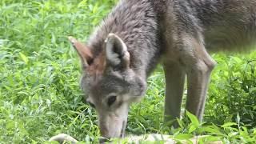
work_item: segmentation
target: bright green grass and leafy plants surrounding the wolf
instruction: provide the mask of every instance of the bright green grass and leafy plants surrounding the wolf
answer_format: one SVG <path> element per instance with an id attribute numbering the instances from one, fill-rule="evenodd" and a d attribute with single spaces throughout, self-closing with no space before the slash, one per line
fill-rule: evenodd
<path id="1" fill-rule="evenodd" d="M 80 63 L 67 36 L 86 41 L 115 2 L 0 2 L 0 142 L 43 143 L 59 133 L 97 142 L 97 118 L 82 104 Z M 163 125 L 165 82 L 159 66 L 148 81 L 146 97 L 130 110 L 127 132 L 175 138 L 210 134 L 226 143 L 254 143 L 256 53 L 213 57 L 218 66 L 212 74 L 205 124 L 198 125 L 190 116 L 192 122 L 181 122 L 178 130 Z"/>

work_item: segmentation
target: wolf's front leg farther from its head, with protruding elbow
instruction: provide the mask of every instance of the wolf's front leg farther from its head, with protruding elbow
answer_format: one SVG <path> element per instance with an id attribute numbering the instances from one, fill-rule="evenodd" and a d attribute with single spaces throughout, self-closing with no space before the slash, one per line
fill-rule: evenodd
<path id="1" fill-rule="evenodd" d="M 210 73 L 214 69 L 216 62 L 206 52 L 204 46 L 197 44 L 193 49 L 196 54 L 189 60 L 190 65 L 186 69 L 188 82 L 186 110 L 189 110 L 198 117 L 199 121 L 202 121 Z"/>

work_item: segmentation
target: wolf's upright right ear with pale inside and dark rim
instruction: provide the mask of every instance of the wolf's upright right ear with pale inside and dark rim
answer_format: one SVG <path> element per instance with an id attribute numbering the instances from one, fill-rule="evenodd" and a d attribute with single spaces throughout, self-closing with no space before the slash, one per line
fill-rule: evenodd
<path id="1" fill-rule="evenodd" d="M 116 34 L 109 34 L 106 38 L 106 60 L 111 66 L 128 68 L 130 66 L 130 54 L 127 46 Z"/>

